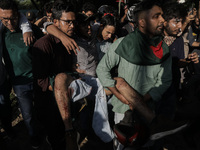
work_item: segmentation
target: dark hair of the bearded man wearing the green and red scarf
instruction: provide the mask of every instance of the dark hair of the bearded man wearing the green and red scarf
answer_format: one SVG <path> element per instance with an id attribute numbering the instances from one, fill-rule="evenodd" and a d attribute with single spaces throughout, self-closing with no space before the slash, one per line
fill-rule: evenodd
<path id="1" fill-rule="evenodd" d="M 138 20 L 141 13 L 152 9 L 153 6 L 161 7 L 160 1 L 159 0 L 144 0 L 136 5 L 136 8 L 134 10 L 136 24 L 138 24 Z"/>

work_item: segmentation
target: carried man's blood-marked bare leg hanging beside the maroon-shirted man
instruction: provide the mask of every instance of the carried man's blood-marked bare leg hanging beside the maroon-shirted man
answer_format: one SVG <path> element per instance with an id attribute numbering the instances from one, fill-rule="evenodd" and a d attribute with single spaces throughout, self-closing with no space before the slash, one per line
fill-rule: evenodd
<path id="1" fill-rule="evenodd" d="M 54 93 L 58 108 L 65 125 L 66 150 L 79 150 L 78 133 L 73 129 L 70 110 L 70 75 L 59 73 L 55 78 Z"/>

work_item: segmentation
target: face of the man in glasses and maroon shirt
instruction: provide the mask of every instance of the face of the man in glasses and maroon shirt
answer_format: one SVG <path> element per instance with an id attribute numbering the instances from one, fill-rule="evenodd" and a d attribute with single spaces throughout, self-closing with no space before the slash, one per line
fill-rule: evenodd
<path id="1" fill-rule="evenodd" d="M 72 36 L 74 34 L 75 21 L 74 12 L 63 12 L 57 26 L 68 36 Z"/>

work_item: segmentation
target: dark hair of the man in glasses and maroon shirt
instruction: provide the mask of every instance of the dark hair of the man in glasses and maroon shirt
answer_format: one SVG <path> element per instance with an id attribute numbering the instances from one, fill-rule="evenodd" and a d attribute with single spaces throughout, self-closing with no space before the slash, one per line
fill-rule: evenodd
<path id="1" fill-rule="evenodd" d="M 60 19 L 63 12 L 74 12 L 74 7 L 71 3 L 56 1 L 52 9 L 53 19 Z"/>

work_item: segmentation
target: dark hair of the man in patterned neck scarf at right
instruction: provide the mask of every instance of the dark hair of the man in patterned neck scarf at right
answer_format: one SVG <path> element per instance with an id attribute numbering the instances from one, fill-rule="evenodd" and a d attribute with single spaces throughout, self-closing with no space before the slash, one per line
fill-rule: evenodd
<path id="1" fill-rule="evenodd" d="M 181 7 L 178 3 L 173 2 L 173 3 L 167 3 L 163 5 L 163 18 L 165 21 L 169 21 L 173 18 L 182 18 L 181 14 Z"/>

